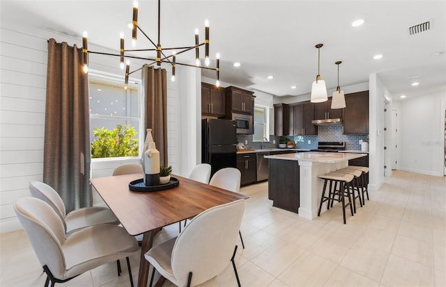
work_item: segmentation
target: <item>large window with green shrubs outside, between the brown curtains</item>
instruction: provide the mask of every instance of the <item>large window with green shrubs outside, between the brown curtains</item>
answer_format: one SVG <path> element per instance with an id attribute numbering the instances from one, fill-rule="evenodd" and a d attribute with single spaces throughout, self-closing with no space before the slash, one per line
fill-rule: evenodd
<path id="1" fill-rule="evenodd" d="M 139 156 L 141 97 L 139 83 L 89 74 L 91 158 Z"/>

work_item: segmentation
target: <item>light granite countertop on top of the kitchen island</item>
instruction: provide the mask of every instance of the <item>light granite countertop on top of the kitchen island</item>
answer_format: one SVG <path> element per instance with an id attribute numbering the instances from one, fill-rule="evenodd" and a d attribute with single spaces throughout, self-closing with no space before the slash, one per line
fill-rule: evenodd
<path id="1" fill-rule="evenodd" d="M 365 154 L 352 153 L 337 153 L 337 152 L 321 152 L 309 151 L 295 154 L 275 154 L 272 156 L 265 156 L 265 158 L 280 159 L 286 161 L 311 161 L 316 163 L 339 163 L 341 161 L 348 161 L 353 158 L 360 158 L 366 156 Z"/>

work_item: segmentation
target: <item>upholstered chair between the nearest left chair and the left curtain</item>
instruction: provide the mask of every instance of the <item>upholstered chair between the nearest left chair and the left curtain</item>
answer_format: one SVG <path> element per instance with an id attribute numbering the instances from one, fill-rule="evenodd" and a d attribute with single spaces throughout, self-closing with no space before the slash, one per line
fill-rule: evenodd
<path id="1" fill-rule="evenodd" d="M 59 193 L 41 181 L 31 181 L 29 183 L 29 191 L 31 191 L 33 197 L 47 202 L 56 211 L 56 214 L 59 215 L 63 222 L 63 227 L 65 227 L 67 234 L 97 224 L 119 224 L 118 218 L 112 211 L 101 206 L 79 208 L 67 214 L 65 204 L 63 204 Z"/>

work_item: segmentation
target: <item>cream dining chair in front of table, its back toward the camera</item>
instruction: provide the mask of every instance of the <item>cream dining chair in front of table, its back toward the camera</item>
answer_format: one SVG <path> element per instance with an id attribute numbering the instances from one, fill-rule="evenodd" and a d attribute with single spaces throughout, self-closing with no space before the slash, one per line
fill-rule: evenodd
<path id="1" fill-rule="evenodd" d="M 149 286 L 155 269 L 162 275 L 157 286 L 165 279 L 176 286 L 197 286 L 220 274 L 231 261 L 240 287 L 234 257 L 244 211 L 243 199 L 209 208 L 195 216 L 176 238 L 149 249 L 144 254 L 153 265 Z"/>

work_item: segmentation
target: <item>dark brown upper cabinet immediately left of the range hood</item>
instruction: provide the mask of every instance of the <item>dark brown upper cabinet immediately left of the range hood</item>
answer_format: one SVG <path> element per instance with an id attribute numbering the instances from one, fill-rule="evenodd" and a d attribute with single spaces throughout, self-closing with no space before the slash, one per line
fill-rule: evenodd
<path id="1" fill-rule="evenodd" d="M 318 128 L 312 124 L 314 119 L 314 104 L 306 103 L 293 106 L 294 136 L 313 136 L 318 134 Z"/>

